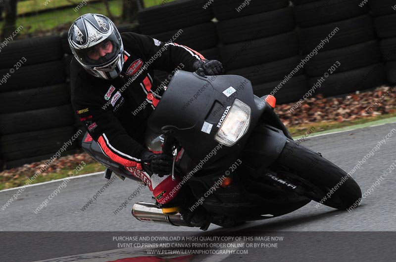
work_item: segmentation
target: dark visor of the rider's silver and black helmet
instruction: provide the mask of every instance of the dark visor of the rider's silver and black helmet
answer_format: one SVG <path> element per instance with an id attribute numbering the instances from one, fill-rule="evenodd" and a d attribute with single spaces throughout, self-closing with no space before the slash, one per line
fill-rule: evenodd
<path id="1" fill-rule="evenodd" d="M 99 37 L 100 38 L 100 37 Z M 94 39 L 95 41 L 96 39 Z M 87 67 L 102 67 L 112 62 L 120 53 L 121 37 L 114 31 L 109 37 L 98 44 L 85 49 L 76 49 L 76 55 Z"/>

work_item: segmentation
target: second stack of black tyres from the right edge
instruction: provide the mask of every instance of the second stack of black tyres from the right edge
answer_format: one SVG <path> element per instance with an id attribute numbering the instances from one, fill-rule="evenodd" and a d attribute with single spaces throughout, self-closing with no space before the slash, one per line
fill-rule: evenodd
<path id="1" fill-rule="evenodd" d="M 292 1 L 309 87 L 321 85 L 315 94 L 335 96 L 387 82 L 368 4 Z"/>

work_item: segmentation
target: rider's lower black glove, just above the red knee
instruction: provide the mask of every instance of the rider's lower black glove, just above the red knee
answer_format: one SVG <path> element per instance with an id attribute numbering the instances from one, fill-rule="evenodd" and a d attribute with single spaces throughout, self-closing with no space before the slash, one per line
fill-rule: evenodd
<path id="1" fill-rule="evenodd" d="M 151 151 L 146 151 L 142 155 L 143 169 L 151 174 L 158 174 L 159 177 L 169 175 L 172 170 L 172 164 L 172 156 L 168 154 L 154 154 Z"/>

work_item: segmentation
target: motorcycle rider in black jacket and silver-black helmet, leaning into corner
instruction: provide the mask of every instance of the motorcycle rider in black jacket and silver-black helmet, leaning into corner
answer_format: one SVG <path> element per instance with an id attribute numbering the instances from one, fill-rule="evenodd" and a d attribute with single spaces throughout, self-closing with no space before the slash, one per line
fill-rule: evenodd
<path id="1" fill-rule="evenodd" d="M 108 157 L 148 185 L 162 207 L 172 207 L 180 190 L 174 190 L 180 180 L 172 181 L 169 175 L 172 158 L 142 146 L 147 119 L 164 91 L 153 70 L 172 72 L 182 65 L 184 71 L 217 75 L 223 72 L 222 64 L 174 42 L 120 35 L 101 14 L 78 17 L 68 41 L 74 55 L 71 102 L 77 117 Z"/>

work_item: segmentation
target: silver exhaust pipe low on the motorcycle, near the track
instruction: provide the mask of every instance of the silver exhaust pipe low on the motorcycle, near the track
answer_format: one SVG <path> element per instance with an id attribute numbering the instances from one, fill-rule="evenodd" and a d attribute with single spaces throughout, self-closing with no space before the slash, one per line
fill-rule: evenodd
<path id="1" fill-rule="evenodd" d="M 138 202 L 133 205 L 131 213 L 132 216 L 142 222 L 190 226 L 184 221 L 182 214 L 177 213 L 175 215 L 165 215 L 154 203 Z"/>

